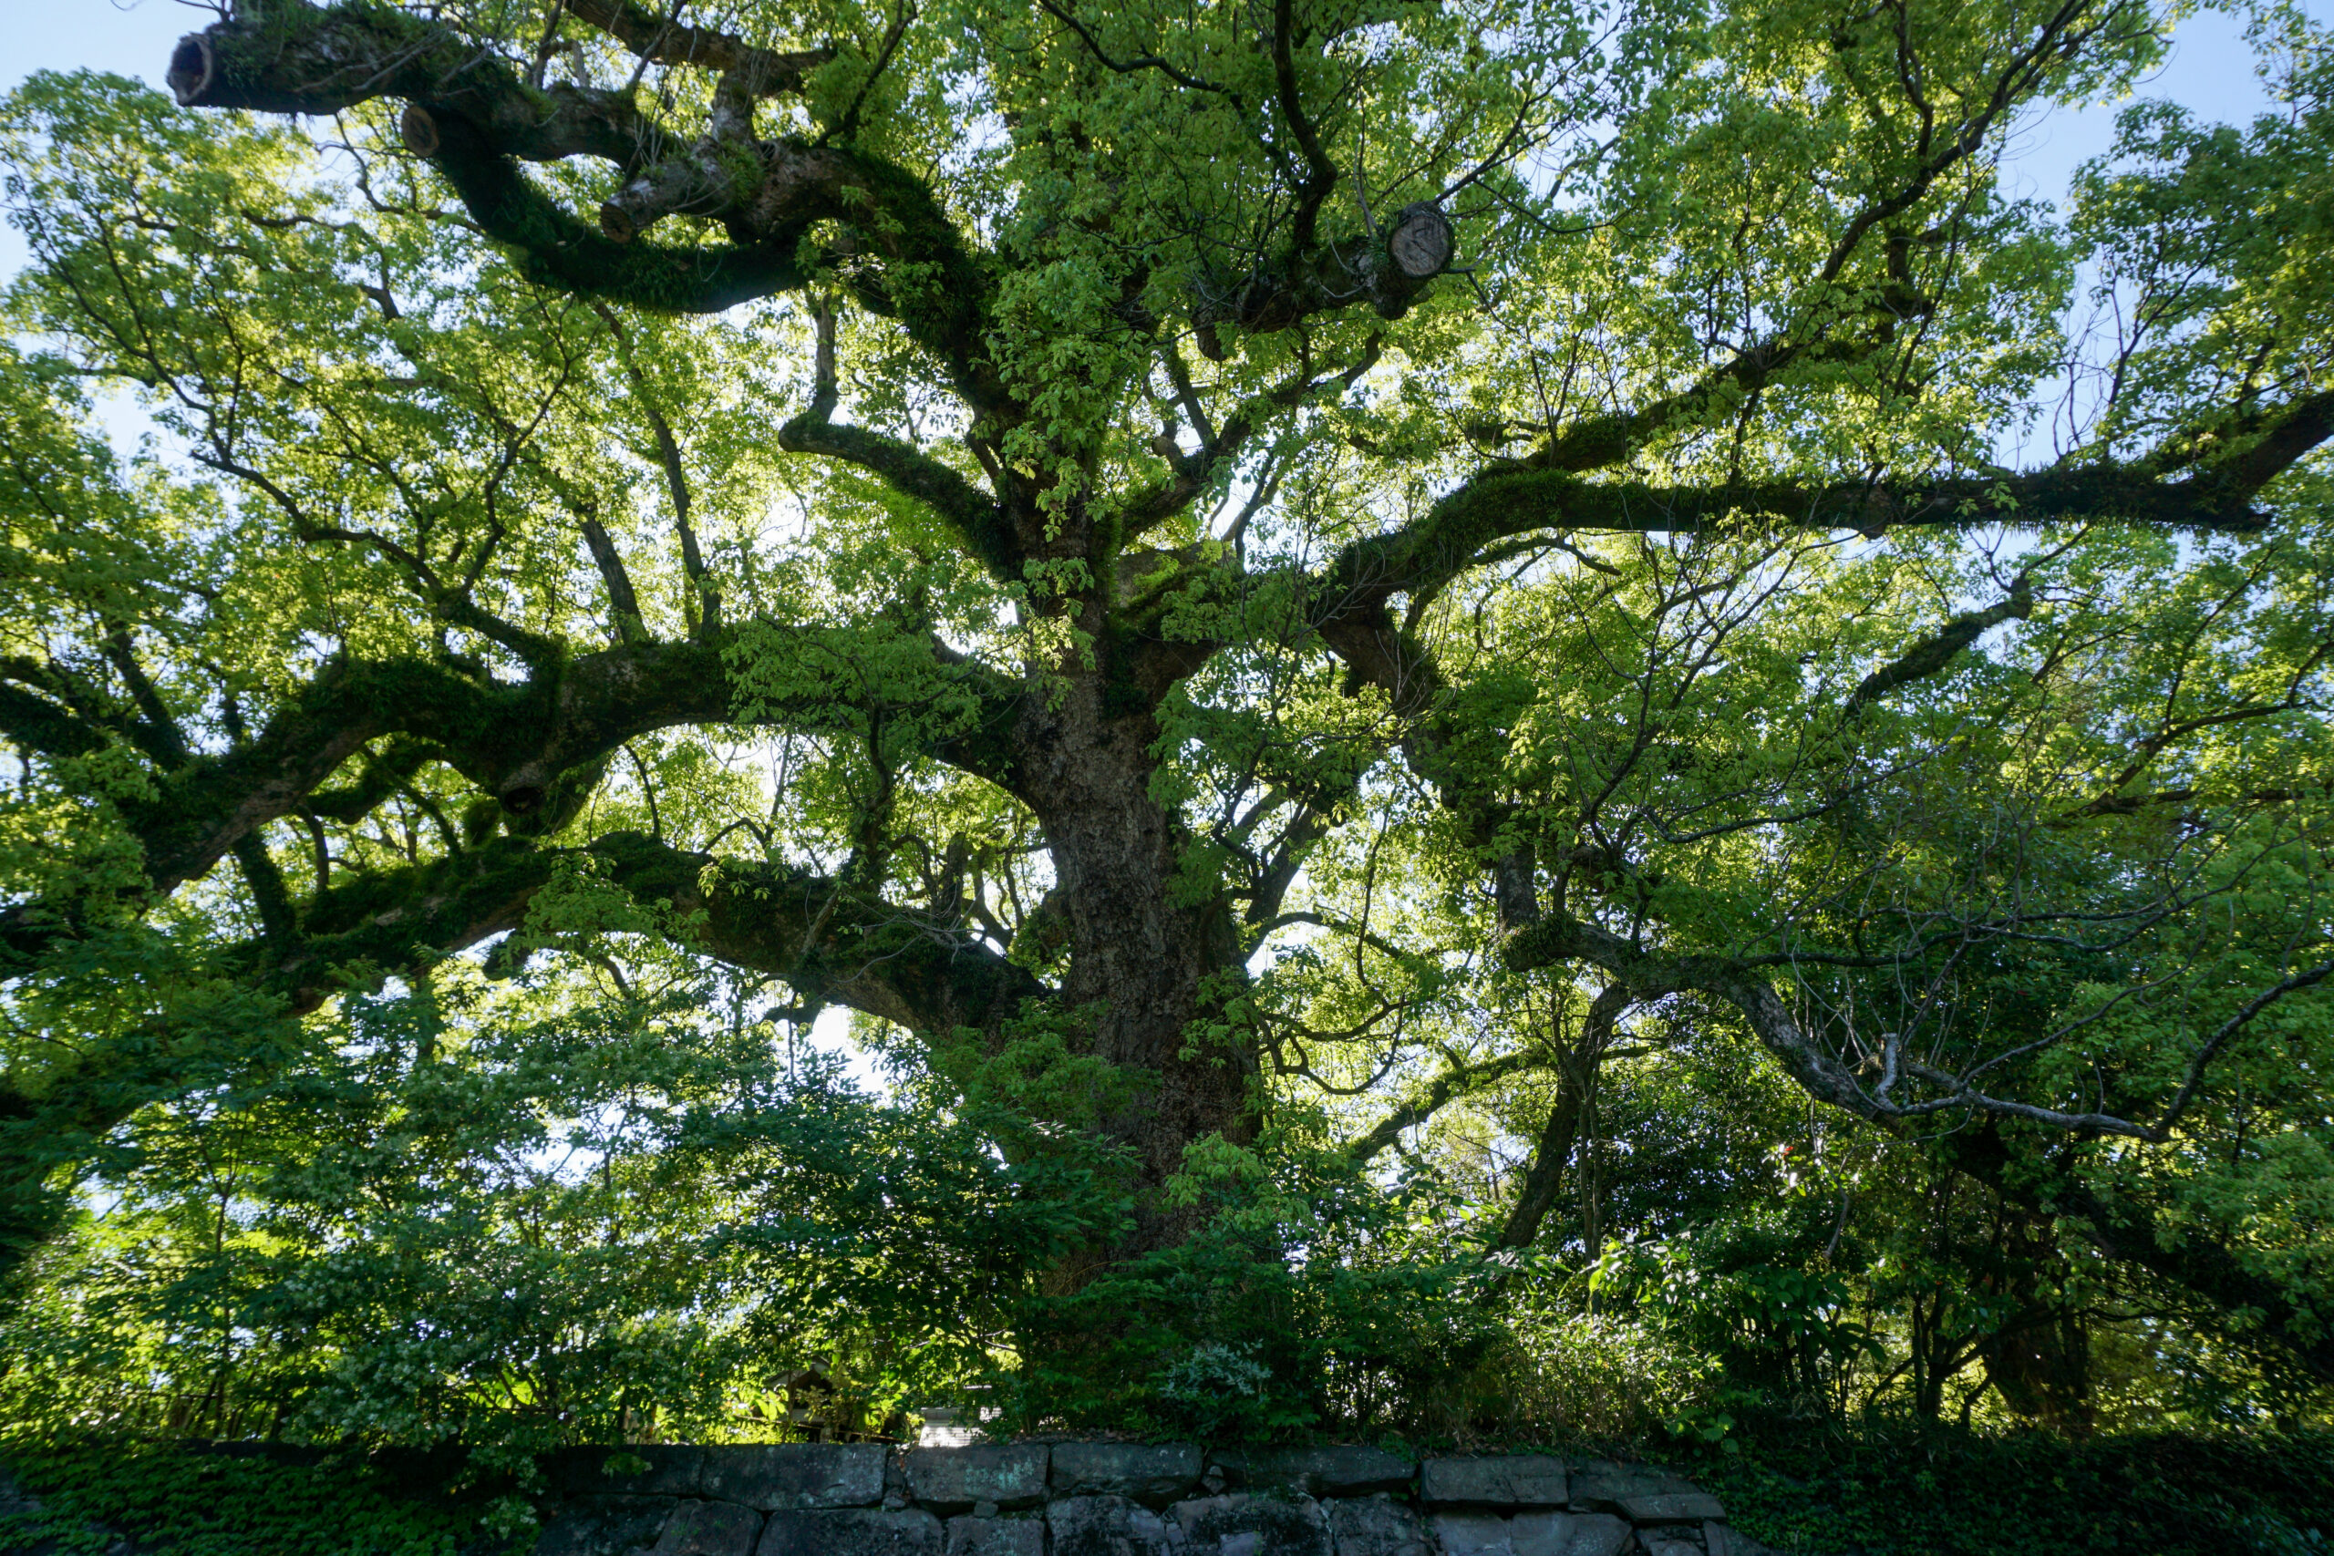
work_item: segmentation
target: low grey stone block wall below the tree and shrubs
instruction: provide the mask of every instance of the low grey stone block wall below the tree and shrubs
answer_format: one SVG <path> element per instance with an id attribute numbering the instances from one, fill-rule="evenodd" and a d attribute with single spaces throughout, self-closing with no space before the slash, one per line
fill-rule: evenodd
<path id="1" fill-rule="evenodd" d="M 623 1453 L 647 1470 L 633 1470 Z M 534 1556 L 1769 1556 L 1648 1465 L 1032 1442 L 574 1449 Z"/>

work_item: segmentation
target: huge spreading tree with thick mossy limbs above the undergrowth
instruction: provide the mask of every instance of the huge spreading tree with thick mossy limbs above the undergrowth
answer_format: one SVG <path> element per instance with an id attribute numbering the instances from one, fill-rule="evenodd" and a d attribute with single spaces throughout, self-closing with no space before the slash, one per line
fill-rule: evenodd
<path id="1" fill-rule="evenodd" d="M 633 935 L 1120 1162 L 1064 1285 L 1195 1145 L 1538 1075 L 1524 1248 L 1704 1022 L 2334 1376 L 2334 54 L 2005 175 L 2168 28 L 236 0 L 175 105 L 35 79 L 9 1257 L 345 991 Z"/>

